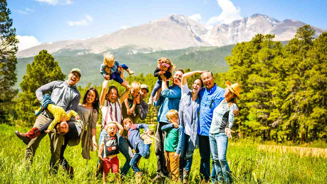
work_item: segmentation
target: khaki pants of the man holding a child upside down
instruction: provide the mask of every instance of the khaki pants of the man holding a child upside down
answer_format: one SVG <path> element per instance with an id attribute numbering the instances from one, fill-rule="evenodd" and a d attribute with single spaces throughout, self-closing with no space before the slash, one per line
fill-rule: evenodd
<path id="1" fill-rule="evenodd" d="M 45 117 L 43 114 L 40 114 L 33 125 L 33 127 L 40 128 L 42 125 L 44 125 L 46 122 L 48 122 L 50 119 Z M 36 152 L 36 149 L 39 147 L 41 140 L 44 138 L 46 134 L 41 134 L 39 137 L 33 138 L 29 144 L 27 145 L 27 148 L 25 150 L 25 156 L 24 156 L 24 163 L 28 162 L 28 164 L 33 163 L 33 158 Z M 60 149 L 61 145 L 63 143 L 63 135 L 60 135 L 56 133 L 55 129 L 52 129 L 49 133 L 50 138 L 50 151 L 51 151 L 51 159 L 50 159 L 50 168 L 53 167 L 53 169 L 58 170 L 58 165 L 56 165 L 57 161 L 59 161 L 60 158 Z M 58 162 L 59 164 L 59 162 Z"/>

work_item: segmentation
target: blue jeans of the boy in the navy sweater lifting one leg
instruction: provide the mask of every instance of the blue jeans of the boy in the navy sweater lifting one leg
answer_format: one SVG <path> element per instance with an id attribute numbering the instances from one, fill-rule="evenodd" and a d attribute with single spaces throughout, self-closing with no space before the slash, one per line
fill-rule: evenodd
<path id="1" fill-rule="evenodd" d="M 150 157 L 150 146 L 151 144 L 144 144 L 143 141 L 137 144 L 137 150 L 135 150 L 135 154 L 129 162 L 129 165 L 132 167 L 134 173 L 140 172 L 139 167 L 137 166 L 137 162 L 144 157 L 148 159 Z"/>

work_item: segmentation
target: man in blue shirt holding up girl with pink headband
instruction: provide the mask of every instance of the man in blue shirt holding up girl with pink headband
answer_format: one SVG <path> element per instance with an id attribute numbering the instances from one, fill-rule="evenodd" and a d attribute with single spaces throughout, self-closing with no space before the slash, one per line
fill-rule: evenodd
<path id="1" fill-rule="evenodd" d="M 181 78 L 184 74 L 182 69 L 176 69 L 175 74 L 173 76 L 173 84 L 171 86 L 167 86 L 166 77 L 161 76 L 163 83 L 161 87 L 161 91 L 157 92 L 157 95 L 154 97 L 153 106 L 159 107 L 158 110 L 158 124 L 157 130 L 155 133 L 155 137 L 160 141 L 155 140 L 155 150 L 157 156 L 157 176 L 153 178 L 153 180 L 161 179 L 163 176 L 168 175 L 165 158 L 164 158 L 164 150 L 163 150 L 163 142 L 164 142 L 164 133 L 161 130 L 163 125 L 168 124 L 168 119 L 166 118 L 166 114 L 169 110 L 175 109 L 178 111 L 179 104 L 181 100 Z M 158 94 L 161 94 L 160 96 Z"/>

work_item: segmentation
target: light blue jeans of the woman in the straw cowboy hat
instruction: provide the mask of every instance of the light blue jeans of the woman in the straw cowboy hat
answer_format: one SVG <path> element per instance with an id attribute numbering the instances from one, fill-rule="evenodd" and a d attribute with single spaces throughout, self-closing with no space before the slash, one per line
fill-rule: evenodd
<path id="1" fill-rule="evenodd" d="M 210 134 L 210 149 L 212 150 L 213 160 L 215 162 L 217 181 L 221 181 L 224 177 L 225 183 L 229 183 L 228 173 L 230 173 L 229 165 L 226 160 L 228 137 L 225 133 Z"/>

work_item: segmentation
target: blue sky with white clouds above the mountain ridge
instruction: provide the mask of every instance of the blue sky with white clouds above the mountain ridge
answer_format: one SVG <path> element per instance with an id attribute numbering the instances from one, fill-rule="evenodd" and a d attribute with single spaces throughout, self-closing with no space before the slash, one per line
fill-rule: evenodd
<path id="1" fill-rule="evenodd" d="M 254 13 L 295 19 L 327 29 L 326 0 L 7 0 L 19 49 L 59 40 L 85 39 L 138 26 L 170 14 L 202 24 L 229 23 Z"/>

